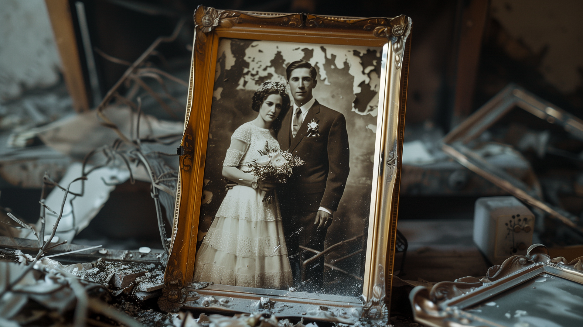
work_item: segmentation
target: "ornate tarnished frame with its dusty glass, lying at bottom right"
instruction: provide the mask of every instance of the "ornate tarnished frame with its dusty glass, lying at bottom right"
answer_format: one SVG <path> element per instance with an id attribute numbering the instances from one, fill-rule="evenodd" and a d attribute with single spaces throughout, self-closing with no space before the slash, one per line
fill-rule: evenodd
<path id="1" fill-rule="evenodd" d="M 542 244 L 488 269 L 482 279 L 441 281 L 413 288 L 417 322 L 449 326 L 581 326 L 583 257 L 551 258 Z"/>

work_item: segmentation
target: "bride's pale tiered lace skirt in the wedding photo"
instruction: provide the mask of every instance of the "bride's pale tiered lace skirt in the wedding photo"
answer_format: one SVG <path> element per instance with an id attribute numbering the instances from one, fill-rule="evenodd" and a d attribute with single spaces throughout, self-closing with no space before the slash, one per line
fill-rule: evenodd
<path id="1" fill-rule="evenodd" d="M 196 254 L 195 281 L 287 289 L 293 284 L 277 201 L 265 192 L 230 189 Z"/>

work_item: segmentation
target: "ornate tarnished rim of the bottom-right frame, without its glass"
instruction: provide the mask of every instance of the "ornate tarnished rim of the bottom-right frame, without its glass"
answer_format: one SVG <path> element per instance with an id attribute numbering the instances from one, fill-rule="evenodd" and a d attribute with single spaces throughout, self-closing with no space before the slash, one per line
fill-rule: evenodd
<path id="1" fill-rule="evenodd" d="M 541 274 L 583 284 L 583 256 L 571 262 L 563 257 L 550 258 L 546 246 L 533 244 L 525 256 L 511 256 L 502 265 L 490 267 L 482 279 L 462 277 L 455 281 L 441 281 L 431 289 L 424 286 L 413 288 L 409 293 L 413 316 L 417 322 L 433 327 L 500 326 L 464 309 Z"/>

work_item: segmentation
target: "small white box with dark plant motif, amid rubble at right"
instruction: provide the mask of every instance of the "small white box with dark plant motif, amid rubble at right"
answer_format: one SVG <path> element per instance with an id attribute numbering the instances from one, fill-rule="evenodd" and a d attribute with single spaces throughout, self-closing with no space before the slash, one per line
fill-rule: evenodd
<path id="1" fill-rule="evenodd" d="M 480 197 L 474 208 L 473 239 L 493 265 L 526 255 L 535 215 L 514 196 Z"/>

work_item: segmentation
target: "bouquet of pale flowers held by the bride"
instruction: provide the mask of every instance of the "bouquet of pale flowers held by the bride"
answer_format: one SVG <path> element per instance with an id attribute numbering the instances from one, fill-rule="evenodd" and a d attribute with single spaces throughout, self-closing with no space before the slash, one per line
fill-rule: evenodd
<path id="1" fill-rule="evenodd" d="M 304 164 L 298 156 L 294 156 L 288 151 L 283 151 L 278 147 L 270 148 L 267 141 L 265 142 L 265 149 L 263 151 L 259 150 L 259 154 L 261 154 L 259 159 L 249 164 L 251 173 L 257 176 L 258 180 L 285 183 L 287 178 L 291 176 L 291 168 Z M 275 196 L 273 190 L 267 192 L 263 202 L 271 203 L 273 196 Z"/>

